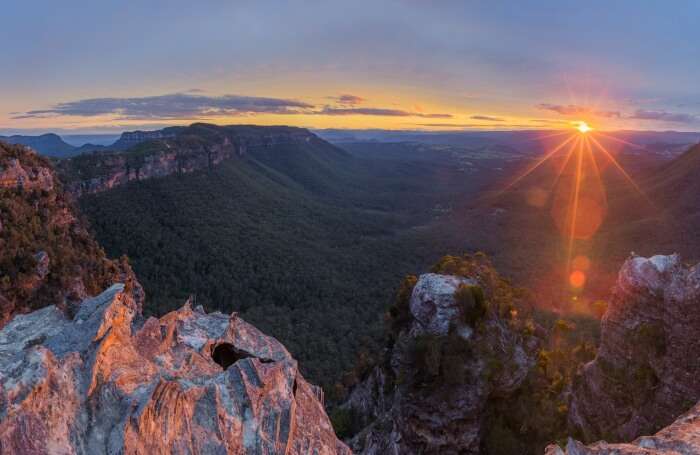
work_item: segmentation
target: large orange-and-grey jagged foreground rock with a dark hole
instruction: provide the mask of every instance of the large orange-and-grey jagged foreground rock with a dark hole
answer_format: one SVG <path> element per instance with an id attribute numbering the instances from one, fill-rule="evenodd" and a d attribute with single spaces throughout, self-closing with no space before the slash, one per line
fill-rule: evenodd
<path id="1" fill-rule="evenodd" d="M 320 397 L 235 314 L 144 321 L 120 284 L 0 330 L 3 454 L 349 454 Z"/>

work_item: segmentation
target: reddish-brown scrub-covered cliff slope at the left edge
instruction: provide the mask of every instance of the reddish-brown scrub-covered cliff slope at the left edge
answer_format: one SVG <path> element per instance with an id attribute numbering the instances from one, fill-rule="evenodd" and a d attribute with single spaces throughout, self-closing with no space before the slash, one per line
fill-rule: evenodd
<path id="1" fill-rule="evenodd" d="M 128 262 L 107 259 L 76 213 L 47 159 L 0 142 L 0 327 L 46 305 L 67 309 L 115 281 L 143 301 Z"/>

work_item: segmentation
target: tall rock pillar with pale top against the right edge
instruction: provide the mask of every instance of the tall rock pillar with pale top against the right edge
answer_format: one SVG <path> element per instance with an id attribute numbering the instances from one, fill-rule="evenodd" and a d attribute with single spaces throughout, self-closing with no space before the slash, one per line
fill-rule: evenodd
<path id="1" fill-rule="evenodd" d="M 628 259 L 602 320 L 598 354 L 574 381 L 573 434 L 630 441 L 697 403 L 698 330 L 700 267 L 683 265 L 677 255 Z"/>

